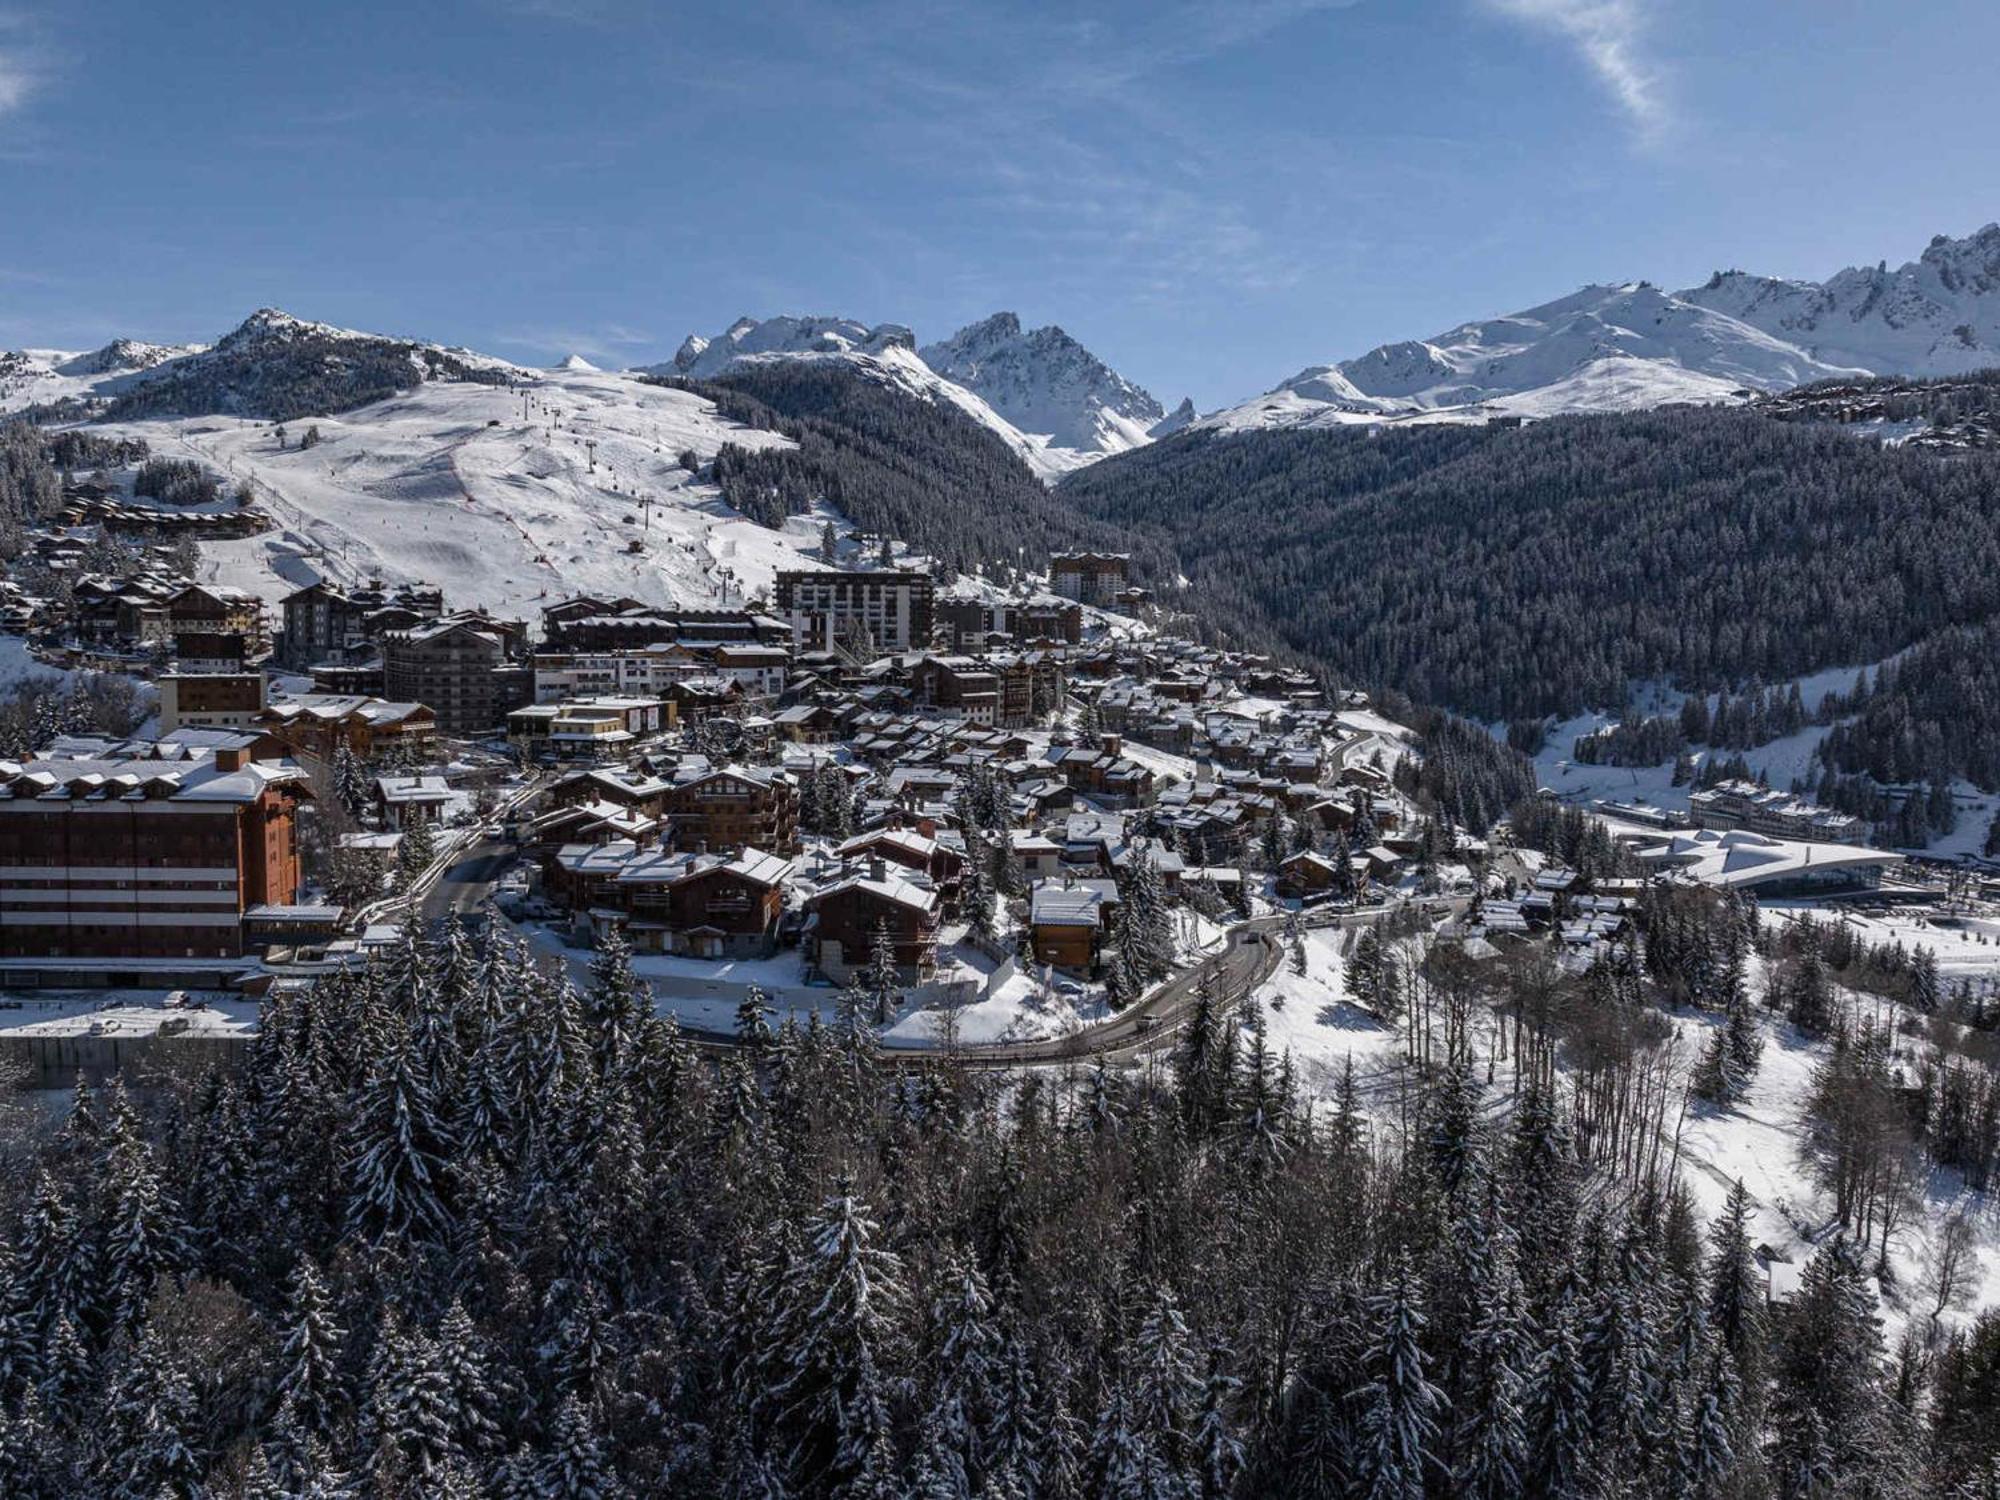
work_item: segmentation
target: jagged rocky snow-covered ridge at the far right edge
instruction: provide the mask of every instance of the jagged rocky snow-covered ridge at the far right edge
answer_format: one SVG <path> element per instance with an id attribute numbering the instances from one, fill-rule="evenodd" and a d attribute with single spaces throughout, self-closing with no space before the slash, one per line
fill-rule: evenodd
<path id="1" fill-rule="evenodd" d="M 1940 234 L 1918 260 L 1850 266 L 1824 282 L 1718 270 L 1680 294 L 1762 328 L 1824 364 L 1948 376 L 2000 364 L 2000 224 Z"/>

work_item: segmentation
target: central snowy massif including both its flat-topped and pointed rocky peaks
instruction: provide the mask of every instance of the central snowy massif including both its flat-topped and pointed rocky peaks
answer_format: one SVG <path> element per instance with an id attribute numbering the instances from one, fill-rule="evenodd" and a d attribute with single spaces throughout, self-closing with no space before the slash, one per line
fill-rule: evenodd
<path id="1" fill-rule="evenodd" d="M 708 380 L 746 362 L 840 360 L 886 386 L 950 402 L 996 432 L 1044 480 L 1150 440 L 1160 404 L 1060 328 L 1022 332 L 1012 312 L 922 352 L 902 324 L 854 318 L 738 318 L 714 338 L 688 334 L 642 374 Z"/>

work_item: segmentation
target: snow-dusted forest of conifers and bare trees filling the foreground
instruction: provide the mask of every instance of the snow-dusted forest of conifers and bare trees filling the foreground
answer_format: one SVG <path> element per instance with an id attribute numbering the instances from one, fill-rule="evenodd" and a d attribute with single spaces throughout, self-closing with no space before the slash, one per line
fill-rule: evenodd
<path id="1" fill-rule="evenodd" d="M 616 940 L 576 986 L 406 932 L 246 1066 L 12 1140 L 0 1490 L 1984 1492 L 2000 1320 L 1888 1348 L 1842 1234 L 1770 1306 L 1746 1194 L 1704 1226 L 1618 1134 L 1614 970 L 1376 952 L 1424 1018 L 1394 1130 L 1210 996 L 1136 1074 L 888 1068 L 756 994 L 718 1062 Z"/>

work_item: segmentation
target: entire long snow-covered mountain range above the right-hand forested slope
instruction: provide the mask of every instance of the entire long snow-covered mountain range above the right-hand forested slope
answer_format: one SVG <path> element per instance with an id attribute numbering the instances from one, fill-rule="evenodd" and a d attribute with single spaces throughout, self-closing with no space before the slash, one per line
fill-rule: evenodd
<path id="1" fill-rule="evenodd" d="M 1730 402 L 1858 374 L 2000 364 L 2000 226 L 1826 282 L 1716 272 L 1668 292 L 1586 286 L 1542 306 L 1300 370 L 1202 426 L 1484 420 Z"/>

